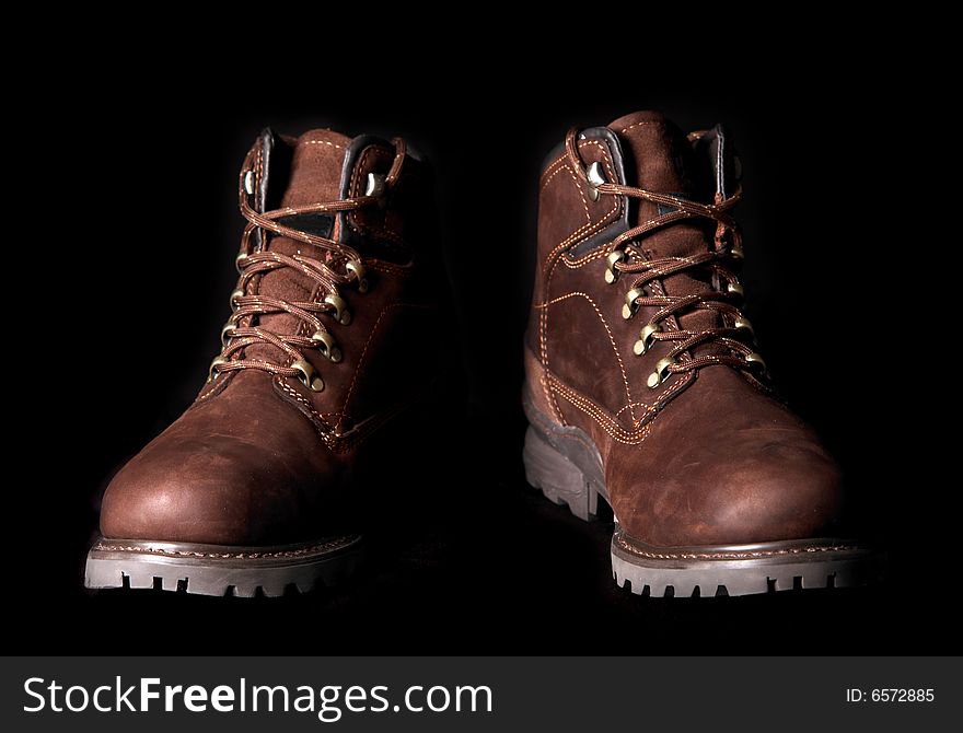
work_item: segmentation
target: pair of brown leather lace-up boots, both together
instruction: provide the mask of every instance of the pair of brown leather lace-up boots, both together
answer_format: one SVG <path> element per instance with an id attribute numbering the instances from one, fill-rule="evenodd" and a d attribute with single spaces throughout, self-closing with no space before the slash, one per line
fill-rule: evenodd
<path id="1" fill-rule="evenodd" d="M 525 473 L 582 519 L 612 505 L 613 573 L 635 593 L 875 574 L 839 538 L 838 469 L 771 393 L 740 310 L 730 147 L 636 113 L 571 130 L 538 183 Z M 280 595 L 353 568 L 379 445 L 420 445 L 401 486 L 443 459 L 409 419 L 452 339 L 430 186 L 401 139 L 258 138 L 221 352 L 109 485 L 88 586 Z M 433 430 L 457 420 L 442 408 Z"/>

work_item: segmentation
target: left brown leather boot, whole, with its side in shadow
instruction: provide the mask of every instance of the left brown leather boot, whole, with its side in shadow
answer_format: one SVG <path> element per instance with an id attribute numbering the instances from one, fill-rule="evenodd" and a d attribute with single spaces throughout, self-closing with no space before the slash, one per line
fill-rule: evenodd
<path id="1" fill-rule="evenodd" d="M 89 587 L 280 595 L 352 569 L 372 441 L 410 429 L 438 374 L 429 186 L 402 140 L 255 141 L 223 348 L 107 488 Z"/>

